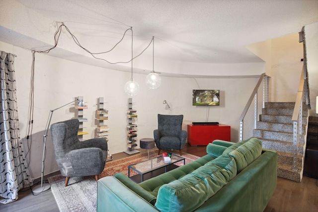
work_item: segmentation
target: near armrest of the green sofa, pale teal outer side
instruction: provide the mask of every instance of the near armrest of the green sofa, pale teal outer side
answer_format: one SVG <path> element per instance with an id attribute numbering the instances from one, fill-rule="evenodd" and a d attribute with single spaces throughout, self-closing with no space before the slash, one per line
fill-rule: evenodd
<path id="1" fill-rule="evenodd" d="M 146 200 L 112 176 L 97 181 L 97 212 L 158 212 Z"/>

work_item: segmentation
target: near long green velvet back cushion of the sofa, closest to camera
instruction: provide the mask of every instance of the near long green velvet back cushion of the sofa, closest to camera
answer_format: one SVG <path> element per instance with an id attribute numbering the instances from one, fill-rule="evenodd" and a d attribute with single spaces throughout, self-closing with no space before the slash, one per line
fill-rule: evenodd
<path id="1" fill-rule="evenodd" d="M 179 180 L 162 185 L 155 207 L 162 212 L 193 211 L 200 207 L 237 173 L 234 158 L 229 155 L 212 161 Z"/>

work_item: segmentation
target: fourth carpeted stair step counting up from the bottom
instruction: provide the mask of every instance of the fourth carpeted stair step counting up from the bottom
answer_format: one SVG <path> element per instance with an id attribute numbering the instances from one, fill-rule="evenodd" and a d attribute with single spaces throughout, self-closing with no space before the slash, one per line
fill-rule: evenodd
<path id="1" fill-rule="evenodd" d="M 293 142 L 293 133 L 288 132 L 279 132 L 279 131 L 271 131 L 271 130 L 253 130 L 253 137 L 263 138 L 267 140 L 279 140 L 279 141 L 291 141 Z M 305 136 L 298 136 L 298 143 L 304 143 Z"/>

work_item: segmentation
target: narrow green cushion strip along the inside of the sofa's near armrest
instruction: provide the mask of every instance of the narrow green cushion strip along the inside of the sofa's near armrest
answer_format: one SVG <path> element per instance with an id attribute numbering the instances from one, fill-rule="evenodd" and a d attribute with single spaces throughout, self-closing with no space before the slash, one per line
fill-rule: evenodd
<path id="1" fill-rule="evenodd" d="M 153 206 L 156 203 L 156 197 L 149 192 L 147 192 L 145 189 L 140 187 L 138 184 L 134 183 L 131 179 L 129 179 L 125 174 L 119 172 L 114 174 L 114 177 L 117 178 L 122 184 L 124 184 L 126 187 L 128 187 L 130 190 L 138 194 L 140 197 L 142 197 L 144 200 L 152 204 Z"/>

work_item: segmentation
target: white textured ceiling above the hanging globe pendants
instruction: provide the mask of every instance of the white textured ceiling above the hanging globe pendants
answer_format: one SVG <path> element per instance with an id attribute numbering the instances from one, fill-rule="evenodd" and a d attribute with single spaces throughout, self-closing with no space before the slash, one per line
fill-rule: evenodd
<path id="1" fill-rule="evenodd" d="M 134 52 L 195 63 L 256 63 L 245 46 L 318 22 L 318 0 L 17 0 L 104 51 L 133 27 Z M 53 35 L 52 35 L 53 36 Z M 102 44 L 93 47 L 96 40 Z M 130 32 L 124 38 L 129 50 Z M 105 48 L 104 48 L 105 47 Z M 104 49 L 103 49 L 104 48 Z M 144 54 L 152 54 L 151 50 Z"/>

